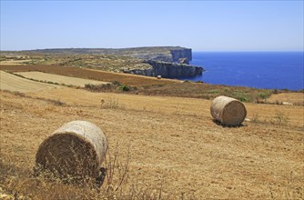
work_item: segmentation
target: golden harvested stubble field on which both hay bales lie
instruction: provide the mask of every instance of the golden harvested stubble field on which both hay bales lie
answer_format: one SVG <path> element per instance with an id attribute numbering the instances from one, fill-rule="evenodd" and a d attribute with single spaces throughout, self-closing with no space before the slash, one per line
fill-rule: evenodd
<path id="1" fill-rule="evenodd" d="M 200 98 L 66 87 L 25 95 L 1 91 L 0 97 L 0 192 L 7 195 L 100 198 L 96 191 L 31 176 L 46 136 L 86 120 L 106 133 L 109 152 L 118 146 L 125 160 L 129 149 L 127 181 L 113 199 L 303 198 L 303 106 L 245 104 L 249 120 L 223 127 L 212 120 L 211 101 Z M 103 187 L 107 194 L 112 188 Z"/>

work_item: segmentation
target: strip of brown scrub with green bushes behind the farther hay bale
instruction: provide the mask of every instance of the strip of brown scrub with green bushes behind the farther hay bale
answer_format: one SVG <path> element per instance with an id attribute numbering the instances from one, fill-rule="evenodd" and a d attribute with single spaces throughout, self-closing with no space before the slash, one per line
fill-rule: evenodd
<path id="1" fill-rule="evenodd" d="M 145 82 L 142 82 L 144 84 Z M 204 83 L 172 82 L 156 85 L 125 85 L 117 81 L 107 85 L 86 85 L 86 90 L 91 92 L 128 92 L 136 95 L 165 95 L 191 98 L 213 99 L 218 95 L 236 98 L 241 102 L 268 103 L 266 99 L 273 93 L 272 90 L 255 89 L 240 86 L 208 85 Z"/>

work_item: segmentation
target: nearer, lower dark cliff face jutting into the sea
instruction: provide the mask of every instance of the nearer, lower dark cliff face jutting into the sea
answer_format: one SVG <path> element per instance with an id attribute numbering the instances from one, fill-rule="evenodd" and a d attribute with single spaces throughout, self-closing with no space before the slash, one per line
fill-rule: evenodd
<path id="1" fill-rule="evenodd" d="M 134 75 L 147 75 L 157 76 L 161 75 L 165 78 L 177 78 L 177 77 L 190 77 L 195 75 L 202 75 L 204 69 L 199 66 L 159 62 L 148 60 L 145 63 L 151 65 L 149 69 L 133 69 L 124 71 L 125 73 Z"/>

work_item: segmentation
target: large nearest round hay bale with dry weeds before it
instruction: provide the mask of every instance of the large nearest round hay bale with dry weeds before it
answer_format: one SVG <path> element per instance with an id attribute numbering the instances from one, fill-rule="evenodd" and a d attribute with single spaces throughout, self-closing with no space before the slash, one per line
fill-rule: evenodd
<path id="1" fill-rule="evenodd" d="M 62 180 L 96 178 L 107 150 L 102 130 L 86 121 L 72 121 L 59 127 L 39 146 L 35 164 L 39 170 Z"/>

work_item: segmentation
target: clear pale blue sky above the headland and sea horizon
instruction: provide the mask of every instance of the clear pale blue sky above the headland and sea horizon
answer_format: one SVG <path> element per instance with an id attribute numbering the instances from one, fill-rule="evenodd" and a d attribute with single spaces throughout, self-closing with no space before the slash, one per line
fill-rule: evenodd
<path id="1" fill-rule="evenodd" d="M 303 51 L 303 1 L 1 0 L 1 50 Z"/>

